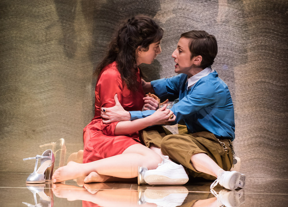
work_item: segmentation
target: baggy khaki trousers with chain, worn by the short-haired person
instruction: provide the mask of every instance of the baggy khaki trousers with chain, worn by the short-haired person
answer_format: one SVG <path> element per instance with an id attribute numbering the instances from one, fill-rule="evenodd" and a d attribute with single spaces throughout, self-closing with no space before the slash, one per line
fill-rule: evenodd
<path id="1" fill-rule="evenodd" d="M 184 129 L 182 128 L 181 131 L 184 132 Z M 172 134 L 163 126 L 154 126 L 140 131 L 139 136 L 147 147 L 154 144 L 161 149 L 164 155 L 168 155 L 170 159 L 185 166 L 192 177 L 203 177 L 209 180 L 216 179 L 212 175 L 195 170 L 192 166 L 190 163 L 191 156 L 197 153 L 205 153 L 223 170 L 231 169 L 233 155 L 229 139 L 220 139 L 228 148 L 228 151 L 225 151 L 224 147 L 211 132 L 184 133 Z"/>

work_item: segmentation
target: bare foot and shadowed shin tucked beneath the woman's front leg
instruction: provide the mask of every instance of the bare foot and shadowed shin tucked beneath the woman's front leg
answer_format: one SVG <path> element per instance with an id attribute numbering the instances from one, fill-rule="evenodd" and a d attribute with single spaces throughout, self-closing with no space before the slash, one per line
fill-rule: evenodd
<path id="1" fill-rule="evenodd" d="M 127 182 L 135 183 L 136 178 L 118 178 L 108 175 L 99 175 L 97 172 L 90 172 L 90 174 L 84 179 L 84 183 L 104 183 L 104 182 Z"/>

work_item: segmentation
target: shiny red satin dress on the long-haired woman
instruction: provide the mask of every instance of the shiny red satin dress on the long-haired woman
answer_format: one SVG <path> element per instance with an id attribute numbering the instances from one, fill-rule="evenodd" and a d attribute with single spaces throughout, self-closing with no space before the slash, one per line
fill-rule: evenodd
<path id="1" fill-rule="evenodd" d="M 92 121 L 84 128 L 84 155 L 83 163 L 121 154 L 127 147 L 141 143 L 138 132 L 127 135 L 114 135 L 118 123 L 103 124 L 100 116 L 101 107 L 115 105 L 114 95 L 126 111 L 141 111 L 145 96 L 139 71 L 137 73 L 138 91 L 128 90 L 125 81 L 121 79 L 117 63 L 112 62 L 102 69 L 98 76 L 95 88 L 95 115 Z"/>

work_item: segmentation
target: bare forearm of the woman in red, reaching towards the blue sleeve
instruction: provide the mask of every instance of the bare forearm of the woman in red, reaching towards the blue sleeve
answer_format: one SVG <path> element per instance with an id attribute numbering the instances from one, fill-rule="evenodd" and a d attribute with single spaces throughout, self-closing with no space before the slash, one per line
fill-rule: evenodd
<path id="1" fill-rule="evenodd" d="M 115 127 L 114 135 L 132 134 L 138 132 L 148 126 L 154 125 L 154 120 L 151 116 L 143 119 L 135 119 L 132 121 L 120 121 Z"/>

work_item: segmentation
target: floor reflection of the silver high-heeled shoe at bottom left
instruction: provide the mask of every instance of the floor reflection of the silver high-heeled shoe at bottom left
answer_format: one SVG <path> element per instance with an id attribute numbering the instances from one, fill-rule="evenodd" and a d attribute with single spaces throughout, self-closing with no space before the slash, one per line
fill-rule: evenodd
<path id="1" fill-rule="evenodd" d="M 26 184 L 26 187 L 33 193 L 35 205 L 29 204 L 27 202 L 22 202 L 29 207 L 53 207 L 53 193 L 51 191 L 51 183 L 41 183 L 41 184 Z M 39 195 L 39 203 L 37 201 L 37 196 Z"/>

